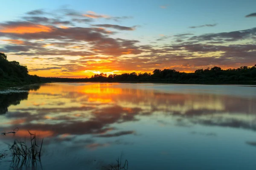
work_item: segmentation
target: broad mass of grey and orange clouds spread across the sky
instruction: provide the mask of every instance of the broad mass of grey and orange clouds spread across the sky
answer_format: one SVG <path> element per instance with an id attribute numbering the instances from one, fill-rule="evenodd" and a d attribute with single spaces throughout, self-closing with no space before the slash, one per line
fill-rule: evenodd
<path id="1" fill-rule="evenodd" d="M 26 62 L 32 61 L 33 57 L 39 57 L 42 63 L 38 65 L 39 69 L 59 67 L 59 76 L 85 70 L 99 73 L 119 70 L 115 72 L 118 74 L 132 71 L 151 72 L 154 68 L 195 71 L 198 67 L 219 65 L 227 68 L 254 62 L 256 28 L 210 34 L 195 35 L 187 32 L 162 35 L 156 42 L 151 42 L 151 45 L 141 45 L 139 38 L 129 40 L 116 36 L 122 31 L 135 31 L 135 26 L 90 23 L 100 18 L 104 19 L 102 21 L 120 21 L 132 17 L 113 17 L 92 11 L 86 14 L 90 16 L 64 8 L 55 10 L 52 15 L 43 10 L 35 10 L 20 17 L 20 20 L 2 22 L 0 48 L 9 55 L 26 57 Z M 206 26 L 214 24 L 194 27 Z M 108 28 L 118 32 L 109 31 Z M 161 45 L 163 43 L 165 45 Z M 137 63 L 140 63 L 139 66 Z M 28 65 L 29 71 L 37 70 L 33 65 L 24 64 Z M 35 74 L 43 72 L 38 70 Z M 52 70 L 52 75 L 55 73 Z M 83 72 L 84 74 L 90 76 L 93 72 Z"/>

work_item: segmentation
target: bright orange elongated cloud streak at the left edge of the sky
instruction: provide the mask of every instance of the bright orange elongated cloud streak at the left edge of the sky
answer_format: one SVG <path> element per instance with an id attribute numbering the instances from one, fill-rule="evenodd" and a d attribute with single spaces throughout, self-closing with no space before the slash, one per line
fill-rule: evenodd
<path id="1" fill-rule="evenodd" d="M 43 25 L 30 25 L 30 26 L 2 26 L 0 27 L 0 32 L 3 33 L 37 33 L 37 32 L 50 32 L 52 28 Z"/>

